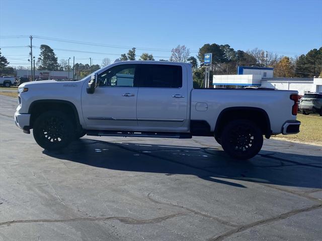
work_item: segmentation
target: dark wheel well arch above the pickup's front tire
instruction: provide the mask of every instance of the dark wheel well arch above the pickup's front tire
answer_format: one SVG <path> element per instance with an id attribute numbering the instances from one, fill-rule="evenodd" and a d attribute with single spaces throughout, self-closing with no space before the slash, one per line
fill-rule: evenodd
<path id="1" fill-rule="evenodd" d="M 82 130 L 79 123 L 78 112 L 75 105 L 65 100 L 36 100 L 31 103 L 28 113 L 31 114 L 30 129 L 33 128 L 37 117 L 46 111 L 56 110 L 67 114 L 71 118 L 72 123 L 75 125 L 76 130 Z"/>

